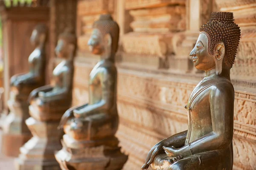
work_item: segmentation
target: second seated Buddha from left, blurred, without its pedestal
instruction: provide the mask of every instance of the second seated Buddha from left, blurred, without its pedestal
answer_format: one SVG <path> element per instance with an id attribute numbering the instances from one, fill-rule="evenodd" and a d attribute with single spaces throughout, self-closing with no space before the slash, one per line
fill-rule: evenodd
<path id="1" fill-rule="evenodd" d="M 30 115 L 38 121 L 60 120 L 71 106 L 75 49 L 76 36 L 66 29 L 58 37 L 55 53 L 62 61 L 53 70 L 50 85 L 34 89 L 29 96 Z"/>

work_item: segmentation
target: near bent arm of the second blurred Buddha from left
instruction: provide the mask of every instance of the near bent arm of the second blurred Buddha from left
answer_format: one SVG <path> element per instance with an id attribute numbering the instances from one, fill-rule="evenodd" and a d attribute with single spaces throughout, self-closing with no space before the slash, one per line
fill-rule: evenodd
<path id="1" fill-rule="evenodd" d="M 40 97 L 42 97 L 43 101 L 53 101 L 59 100 L 61 98 L 66 97 L 67 93 L 70 91 L 72 77 L 71 72 L 67 70 L 63 73 L 63 84 L 61 88 L 53 88 L 51 91 L 41 93 Z"/>

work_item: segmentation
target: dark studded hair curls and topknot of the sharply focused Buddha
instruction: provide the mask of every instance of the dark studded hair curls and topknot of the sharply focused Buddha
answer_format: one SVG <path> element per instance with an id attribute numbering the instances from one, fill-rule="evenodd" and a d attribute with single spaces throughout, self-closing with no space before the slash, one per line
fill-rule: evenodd
<path id="1" fill-rule="evenodd" d="M 209 53 L 214 55 L 215 45 L 224 43 L 224 63 L 232 68 L 241 36 L 240 27 L 234 23 L 232 12 L 212 12 L 209 21 L 201 26 L 200 32 L 209 37 Z"/>

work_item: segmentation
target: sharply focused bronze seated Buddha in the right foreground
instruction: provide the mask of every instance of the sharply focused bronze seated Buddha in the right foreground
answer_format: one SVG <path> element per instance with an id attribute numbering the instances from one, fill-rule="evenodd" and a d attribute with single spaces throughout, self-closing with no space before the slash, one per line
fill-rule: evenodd
<path id="1" fill-rule="evenodd" d="M 142 169 L 232 170 L 234 89 L 230 69 L 240 40 L 233 13 L 213 12 L 201 26 L 190 53 L 204 79 L 195 87 L 185 106 L 188 130 L 157 143 Z"/>

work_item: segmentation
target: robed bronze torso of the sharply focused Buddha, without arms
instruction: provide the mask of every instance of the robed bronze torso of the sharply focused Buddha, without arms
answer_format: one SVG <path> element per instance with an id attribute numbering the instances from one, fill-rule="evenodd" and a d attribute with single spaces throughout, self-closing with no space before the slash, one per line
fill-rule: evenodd
<path id="1" fill-rule="evenodd" d="M 232 86 L 226 78 L 203 79 L 193 90 L 188 104 L 188 132 L 186 144 L 212 132 L 212 118 L 210 111 L 210 95 L 212 88 L 227 83 Z"/>

